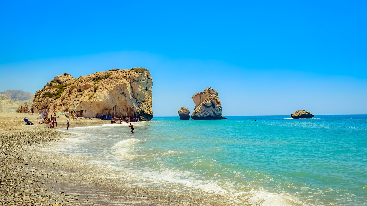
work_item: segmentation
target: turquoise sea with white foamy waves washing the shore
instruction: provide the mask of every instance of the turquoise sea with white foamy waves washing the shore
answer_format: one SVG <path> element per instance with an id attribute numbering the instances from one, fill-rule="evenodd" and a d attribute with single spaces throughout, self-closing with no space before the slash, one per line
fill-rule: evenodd
<path id="1" fill-rule="evenodd" d="M 154 117 L 133 134 L 126 123 L 72 128 L 54 151 L 138 187 L 196 191 L 223 205 L 367 205 L 367 115 L 227 118 Z"/>

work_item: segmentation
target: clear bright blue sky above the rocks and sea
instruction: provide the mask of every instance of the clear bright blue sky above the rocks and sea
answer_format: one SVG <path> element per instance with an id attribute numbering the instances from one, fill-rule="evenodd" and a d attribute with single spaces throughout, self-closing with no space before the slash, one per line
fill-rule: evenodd
<path id="1" fill-rule="evenodd" d="M 145 67 L 155 116 L 367 114 L 367 1 L 0 0 L 0 92 Z"/>

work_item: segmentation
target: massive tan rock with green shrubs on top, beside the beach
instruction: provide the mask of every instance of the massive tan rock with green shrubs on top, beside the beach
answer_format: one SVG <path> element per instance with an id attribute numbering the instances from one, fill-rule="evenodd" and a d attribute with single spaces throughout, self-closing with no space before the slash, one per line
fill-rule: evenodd
<path id="1" fill-rule="evenodd" d="M 153 118 L 153 81 L 150 72 L 141 67 L 113 69 L 74 78 L 58 75 L 34 95 L 34 112 L 79 113 L 81 117 L 117 115 L 142 121 Z"/>

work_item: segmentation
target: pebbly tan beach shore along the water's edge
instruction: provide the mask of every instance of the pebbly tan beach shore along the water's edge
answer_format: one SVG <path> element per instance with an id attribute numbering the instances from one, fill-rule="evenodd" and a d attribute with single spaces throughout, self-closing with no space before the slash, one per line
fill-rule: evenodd
<path id="1" fill-rule="evenodd" d="M 35 125 L 25 125 L 27 117 Z M 50 129 L 37 114 L 0 113 L 0 205 L 226 205 L 218 197 L 140 188 L 76 157 L 40 150 L 70 133 Z M 71 127 L 110 124 L 108 120 L 80 118 Z M 58 119 L 66 128 L 66 118 Z M 65 161 L 67 159 L 67 161 Z"/>

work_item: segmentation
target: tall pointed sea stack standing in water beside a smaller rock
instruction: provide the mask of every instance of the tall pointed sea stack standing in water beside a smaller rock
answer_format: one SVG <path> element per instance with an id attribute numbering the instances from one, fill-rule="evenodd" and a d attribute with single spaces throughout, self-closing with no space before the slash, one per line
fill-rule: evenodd
<path id="1" fill-rule="evenodd" d="M 191 118 L 195 120 L 204 119 L 226 119 L 222 117 L 222 104 L 218 98 L 218 92 L 208 87 L 203 92 L 192 96 L 195 102 L 195 110 Z"/>

